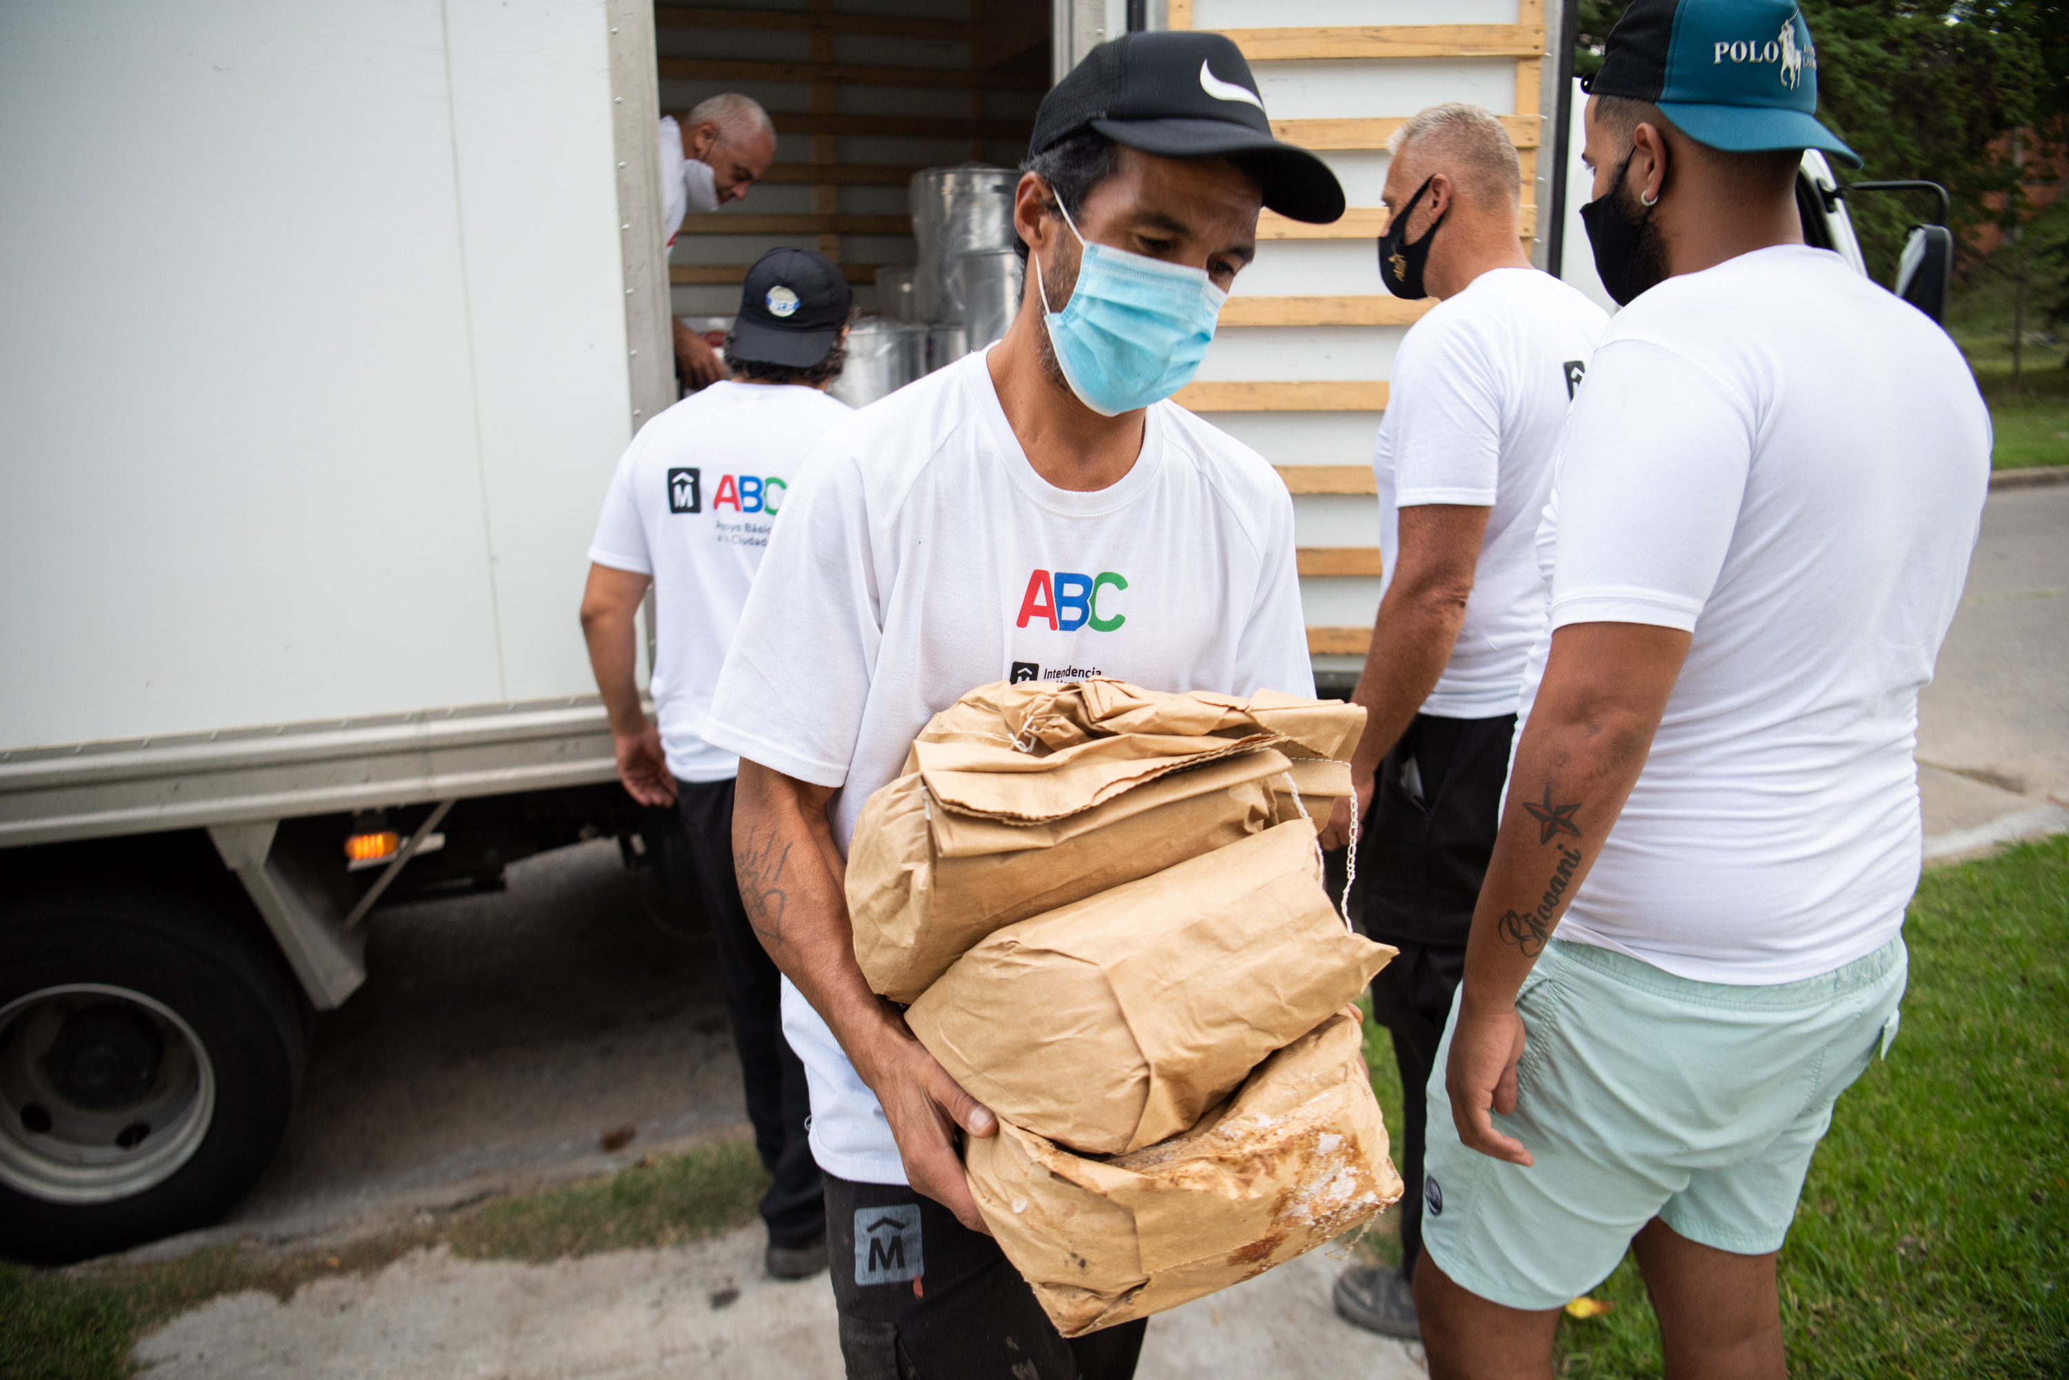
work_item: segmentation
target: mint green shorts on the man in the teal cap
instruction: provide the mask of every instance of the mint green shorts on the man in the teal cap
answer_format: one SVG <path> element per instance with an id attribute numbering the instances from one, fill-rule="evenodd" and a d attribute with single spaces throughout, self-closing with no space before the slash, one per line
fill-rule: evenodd
<path id="1" fill-rule="evenodd" d="M 1781 1250 L 1831 1107 L 1897 1032 L 1908 958 L 1891 939 L 1800 983 L 1692 983 L 1554 939 L 1517 993 L 1517 1111 L 1531 1169 L 1467 1150 L 1444 1063 L 1426 1090 L 1423 1250 L 1508 1308 L 1560 1308 L 1610 1277 L 1651 1219 L 1717 1250 Z"/>

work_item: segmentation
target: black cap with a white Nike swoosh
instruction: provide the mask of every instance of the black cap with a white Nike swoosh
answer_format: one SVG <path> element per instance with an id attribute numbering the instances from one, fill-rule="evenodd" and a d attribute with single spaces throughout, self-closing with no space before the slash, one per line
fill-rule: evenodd
<path id="1" fill-rule="evenodd" d="M 1239 157 L 1264 176 L 1264 205 L 1314 226 L 1343 215 L 1343 184 L 1308 149 L 1272 139 L 1258 81 L 1221 33 L 1130 33 L 1088 52 L 1049 87 L 1028 153 L 1080 130 L 1159 157 Z"/>

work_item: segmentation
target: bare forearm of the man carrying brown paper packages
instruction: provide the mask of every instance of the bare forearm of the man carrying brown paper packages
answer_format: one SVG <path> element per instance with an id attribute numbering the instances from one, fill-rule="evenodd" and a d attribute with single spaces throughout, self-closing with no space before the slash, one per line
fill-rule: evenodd
<path id="1" fill-rule="evenodd" d="M 826 817 L 832 790 L 741 761 L 732 797 L 732 867 L 741 904 L 784 977 L 805 995 L 875 1086 L 881 1041 L 910 1041 L 854 962 L 844 863 Z"/>

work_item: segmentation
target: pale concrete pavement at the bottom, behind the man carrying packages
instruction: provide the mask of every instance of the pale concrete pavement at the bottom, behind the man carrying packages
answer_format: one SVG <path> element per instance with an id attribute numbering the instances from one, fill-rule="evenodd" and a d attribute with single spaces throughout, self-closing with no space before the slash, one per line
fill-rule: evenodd
<path id="1" fill-rule="evenodd" d="M 151 1380 L 840 1380 L 826 1277 L 761 1274 L 761 1231 L 552 1264 L 416 1252 L 286 1303 L 219 1297 L 137 1347 Z M 1419 1347 L 1328 1308 L 1314 1252 L 1150 1320 L 1140 1380 L 1413 1380 Z"/>

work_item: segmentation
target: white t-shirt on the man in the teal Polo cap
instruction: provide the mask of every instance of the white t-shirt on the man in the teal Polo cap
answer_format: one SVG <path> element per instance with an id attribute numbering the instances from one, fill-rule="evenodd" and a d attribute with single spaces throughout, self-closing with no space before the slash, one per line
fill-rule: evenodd
<path id="1" fill-rule="evenodd" d="M 1920 867 L 1918 691 L 1988 476 L 1959 350 L 1833 252 L 1763 248 L 1616 317 L 1539 530 L 1550 629 L 1695 641 L 1558 937 L 1767 985 L 1897 935 Z"/>

